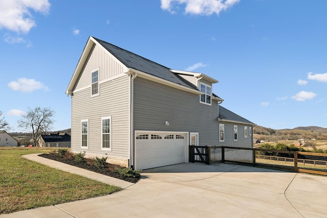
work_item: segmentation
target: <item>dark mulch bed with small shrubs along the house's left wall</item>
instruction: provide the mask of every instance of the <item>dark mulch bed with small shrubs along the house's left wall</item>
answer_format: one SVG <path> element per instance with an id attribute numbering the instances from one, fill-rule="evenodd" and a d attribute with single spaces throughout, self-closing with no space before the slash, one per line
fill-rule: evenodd
<path id="1" fill-rule="evenodd" d="M 66 163 L 69 165 L 77 166 L 77 167 L 80 167 L 83 169 L 87 169 L 88 171 L 93 171 L 93 172 L 96 172 L 99 174 L 114 177 L 114 178 L 121 179 L 121 180 L 124 180 L 127 182 L 136 183 L 139 180 L 139 178 L 124 177 L 124 176 L 120 175 L 119 173 L 115 172 L 115 169 L 121 169 L 124 167 L 115 165 L 115 164 L 111 164 L 111 163 L 106 163 L 106 167 L 104 167 L 104 168 L 98 168 L 92 164 L 94 160 L 88 159 L 88 158 L 85 158 L 85 162 L 77 162 L 77 161 L 71 160 L 71 159 L 64 159 L 63 157 L 60 157 L 58 155 L 58 153 L 40 154 L 39 156 L 45 157 L 45 158 L 48 158 L 51 160 L 59 161 L 62 163 Z"/>

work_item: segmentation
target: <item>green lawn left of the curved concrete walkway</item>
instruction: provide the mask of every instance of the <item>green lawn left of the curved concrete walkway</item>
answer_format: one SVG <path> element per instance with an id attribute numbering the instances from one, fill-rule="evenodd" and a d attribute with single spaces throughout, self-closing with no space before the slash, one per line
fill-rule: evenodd
<path id="1" fill-rule="evenodd" d="M 120 190 L 21 157 L 51 151 L 50 148 L 0 147 L 0 214 L 104 196 Z"/>

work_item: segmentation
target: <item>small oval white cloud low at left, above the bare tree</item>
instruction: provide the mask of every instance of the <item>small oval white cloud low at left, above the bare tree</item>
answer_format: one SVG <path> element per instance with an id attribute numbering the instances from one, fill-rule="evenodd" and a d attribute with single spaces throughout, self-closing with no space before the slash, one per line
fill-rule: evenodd
<path id="1" fill-rule="evenodd" d="M 43 83 L 27 78 L 19 78 L 17 81 L 8 83 L 8 86 L 14 91 L 21 92 L 32 92 L 37 89 L 44 89 L 45 91 L 49 90 L 49 88 L 44 86 Z"/>

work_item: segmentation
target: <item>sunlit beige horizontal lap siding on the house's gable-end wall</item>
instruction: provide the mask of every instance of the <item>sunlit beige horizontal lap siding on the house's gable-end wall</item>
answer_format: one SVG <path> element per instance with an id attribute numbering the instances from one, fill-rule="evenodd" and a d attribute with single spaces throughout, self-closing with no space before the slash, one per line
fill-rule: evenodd
<path id="1" fill-rule="evenodd" d="M 111 151 L 101 150 L 101 118 L 111 116 Z M 88 119 L 88 149 L 81 148 L 81 120 Z M 129 77 L 100 83 L 100 95 L 90 88 L 72 96 L 72 151 L 90 156 L 129 159 Z"/>

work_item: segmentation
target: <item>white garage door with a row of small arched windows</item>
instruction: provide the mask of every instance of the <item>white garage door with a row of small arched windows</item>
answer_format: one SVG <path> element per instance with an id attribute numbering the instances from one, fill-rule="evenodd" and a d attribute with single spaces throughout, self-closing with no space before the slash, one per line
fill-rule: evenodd
<path id="1" fill-rule="evenodd" d="M 135 169 L 186 162 L 188 133 L 135 132 Z"/>

